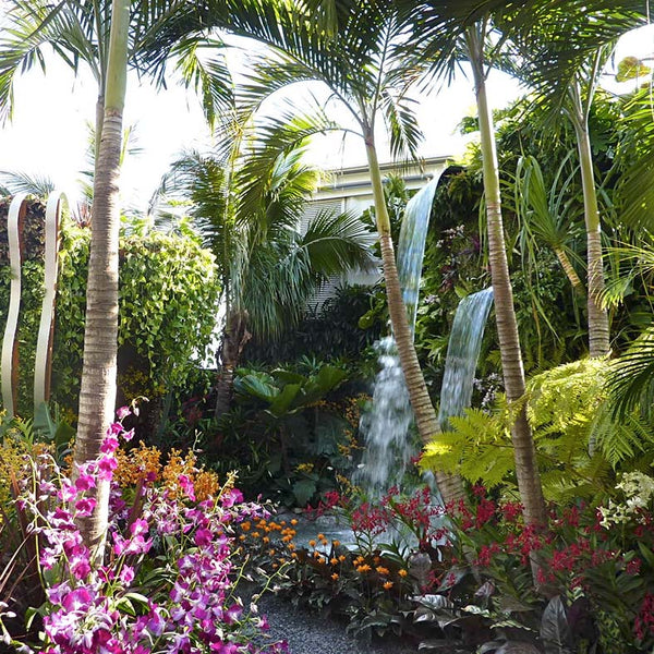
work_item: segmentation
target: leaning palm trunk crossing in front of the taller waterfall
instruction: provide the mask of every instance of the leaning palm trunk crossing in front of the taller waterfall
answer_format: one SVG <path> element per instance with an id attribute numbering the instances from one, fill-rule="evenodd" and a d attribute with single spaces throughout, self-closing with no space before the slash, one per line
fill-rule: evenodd
<path id="1" fill-rule="evenodd" d="M 413 335 L 409 327 L 407 307 L 402 300 L 402 289 L 398 277 L 392 239 L 390 237 L 390 218 L 384 197 L 384 187 L 382 184 L 382 171 L 377 159 L 377 150 L 373 136 L 373 130 L 365 132 L 365 148 L 368 160 L 371 182 L 373 185 L 373 196 L 375 201 L 375 216 L 377 222 L 377 232 L 379 235 L 379 245 L 382 247 L 382 262 L 384 266 L 384 280 L 386 283 L 386 295 L 388 302 L 388 312 L 390 314 L 390 324 L 395 337 L 400 365 L 404 373 L 411 408 L 415 415 L 415 424 L 423 443 L 429 443 L 440 432 L 438 417 L 432 399 L 427 391 L 427 385 L 417 361 L 417 354 L 413 347 Z M 438 491 L 446 504 L 458 502 L 463 497 L 463 484 L 458 476 L 436 473 L 436 483 Z"/>

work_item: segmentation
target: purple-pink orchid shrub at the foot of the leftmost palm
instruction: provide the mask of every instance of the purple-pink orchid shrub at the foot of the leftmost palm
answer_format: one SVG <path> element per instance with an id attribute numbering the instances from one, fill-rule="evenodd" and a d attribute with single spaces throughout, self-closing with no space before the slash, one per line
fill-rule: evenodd
<path id="1" fill-rule="evenodd" d="M 26 460 L 31 474 L 16 506 L 28 521 L 26 542 L 39 552 L 47 595 L 37 611 L 43 619 L 38 651 L 286 651 L 282 643 L 261 644 L 265 618 L 252 607 L 244 609 L 234 594 L 233 579 L 243 565 L 232 548 L 234 525 L 266 511 L 242 502 L 233 475 L 215 495 L 198 501 L 184 472 L 197 479 L 201 471 L 179 458 L 169 469 L 179 472 L 174 484 L 169 479 L 158 486 L 144 471 L 133 493 L 121 493 L 112 480 L 116 450 L 119 438 L 129 440 L 132 435 L 114 423 L 101 456 L 77 467 L 74 479 L 48 455 Z M 87 492 L 98 479 L 111 481 L 110 522 L 105 557 L 94 566 L 75 519 L 93 511 L 95 499 Z M 131 504 L 125 501 L 129 495 Z M 9 603 L 0 606 L 5 616 L 11 609 Z M 11 641 L 7 630 L 4 639 Z M 25 643 L 13 644 L 21 652 L 34 651 Z"/>

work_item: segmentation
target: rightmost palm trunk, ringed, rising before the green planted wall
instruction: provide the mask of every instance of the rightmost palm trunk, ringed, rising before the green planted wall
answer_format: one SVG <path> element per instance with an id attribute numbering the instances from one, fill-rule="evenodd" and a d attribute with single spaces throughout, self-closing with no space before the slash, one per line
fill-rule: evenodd
<path id="1" fill-rule="evenodd" d="M 570 119 L 577 136 L 577 149 L 581 168 L 583 189 L 583 215 L 586 228 L 588 253 L 588 307 L 589 307 L 589 350 L 591 356 L 606 356 L 610 352 L 608 313 L 600 306 L 604 291 L 604 268 L 602 265 L 602 226 L 597 208 L 597 193 L 593 173 L 593 154 L 589 135 L 588 119 L 581 107 L 581 97 L 576 86 L 570 88 L 573 108 Z"/>

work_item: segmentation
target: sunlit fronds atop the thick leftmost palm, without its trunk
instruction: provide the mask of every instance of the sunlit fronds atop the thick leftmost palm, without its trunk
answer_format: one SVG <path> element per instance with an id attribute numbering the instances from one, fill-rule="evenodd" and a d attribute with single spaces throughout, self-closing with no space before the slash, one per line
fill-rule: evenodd
<path id="1" fill-rule="evenodd" d="M 148 73 L 158 85 L 166 85 L 166 58 L 186 87 L 202 97 L 205 116 L 213 123 L 219 110 L 229 106 L 233 85 L 223 57 L 223 45 L 196 22 L 194 3 L 177 0 L 136 0 L 131 2 L 130 65 Z M 85 63 L 104 96 L 111 2 L 109 0 L 9 0 L 5 24 L 0 36 L 0 120 L 11 118 L 13 86 L 17 74 L 35 65 L 44 71 L 51 49 L 76 74 Z M 195 22 L 194 22 L 195 21 Z M 184 25 L 173 46 L 141 65 L 141 51 L 153 40 L 161 25 Z M 164 58 L 164 59 L 162 59 Z"/>

